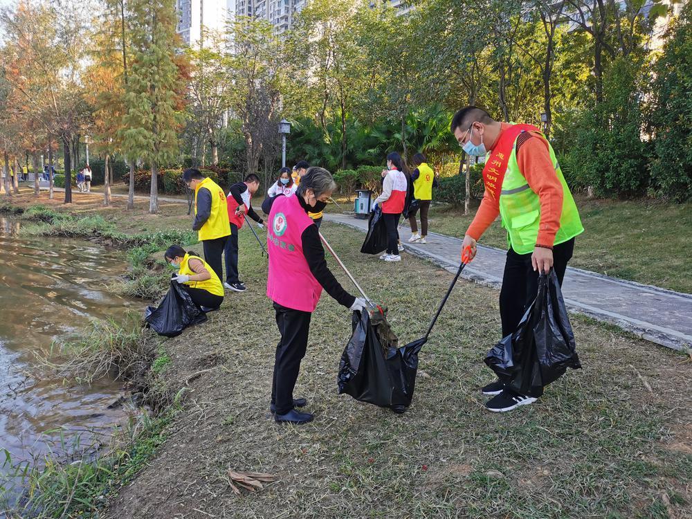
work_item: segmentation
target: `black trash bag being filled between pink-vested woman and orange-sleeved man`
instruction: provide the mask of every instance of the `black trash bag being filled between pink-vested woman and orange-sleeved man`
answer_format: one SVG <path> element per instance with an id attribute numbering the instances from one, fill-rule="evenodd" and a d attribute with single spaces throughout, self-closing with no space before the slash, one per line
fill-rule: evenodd
<path id="1" fill-rule="evenodd" d="M 385 313 L 353 313 L 353 335 L 339 363 L 339 394 L 404 412 L 410 406 L 418 370 L 417 347 L 399 347 Z"/>

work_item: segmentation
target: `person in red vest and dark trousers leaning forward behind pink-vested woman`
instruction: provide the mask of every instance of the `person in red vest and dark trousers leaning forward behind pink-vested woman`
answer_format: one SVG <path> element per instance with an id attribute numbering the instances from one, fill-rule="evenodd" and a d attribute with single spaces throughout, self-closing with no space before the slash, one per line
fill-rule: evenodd
<path id="1" fill-rule="evenodd" d="M 224 286 L 235 292 L 244 292 L 247 289 L 244 282 L 240 280 L 238 273 L 238 230 L 245 223 L 246 215 L 257 222 L 257 227 L 260 229 L 264 228 L 264 221 L 257 215 L 252 204 L 253 196 L 258 189 L 260 189 L 260 177 L 251 173 L 245 177 L 244 182 L 231 185 L 228 197 L 226 197 L 230 237 L 224 249 L 226 260 L 226 282 Z"/>

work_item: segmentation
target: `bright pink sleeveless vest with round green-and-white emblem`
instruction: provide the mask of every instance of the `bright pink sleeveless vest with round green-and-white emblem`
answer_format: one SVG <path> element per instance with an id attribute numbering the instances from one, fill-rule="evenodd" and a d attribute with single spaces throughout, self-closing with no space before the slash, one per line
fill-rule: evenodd
<path id="1" fill-rule="evenodd" d="M 311 312 L 322 294 L 303 256 L 302 233 L 313 224 L 298 197 L 277 197 L 266 233 L 269 275 L 266 295 L 282 307 Z"/>

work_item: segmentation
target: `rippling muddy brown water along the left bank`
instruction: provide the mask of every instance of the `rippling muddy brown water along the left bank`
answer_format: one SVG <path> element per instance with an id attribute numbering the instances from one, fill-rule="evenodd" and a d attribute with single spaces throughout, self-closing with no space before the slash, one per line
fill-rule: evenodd
<path id="1" fill-rule="evenodd" d="M 119 383 L 65 383 L 35 354 L 90 320 L 122 318 L 129 305 L 107 289 L 125 271 L 122 252 L 19 237 L 21 223 L 0 217 L 0 457 L 8 450 L 12 464 L 60 451 L 61 437 L 97 441 L 122 419 L 121 409 L 108 409 L 122 394 Z"/>

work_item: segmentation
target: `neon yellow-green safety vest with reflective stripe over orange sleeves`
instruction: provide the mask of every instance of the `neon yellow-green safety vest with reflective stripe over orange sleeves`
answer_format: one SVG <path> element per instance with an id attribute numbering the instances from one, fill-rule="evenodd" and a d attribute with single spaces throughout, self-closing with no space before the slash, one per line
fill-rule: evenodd
<path id="1" fill-rule="evenodd" d="M 545 136 L 544 136 L 545 137 Z M 517 137 L 518 138 L 518 137 Z M 547 139 L 546 139 L 547 142 Z M 560 217 L 560 228 L 555 235 L 554 245 L 567 242 L 584 232 L 576 209 L 574 197 L 567 187 L 553 147 L 548 143 L 550 160 L 563 186 L 563 208 Z M 507 246 L 517 254 L 529 254 L 534 251 L 540 226 L 540 200 L 538 194 L 529 187 L 525 176 L 519 170 L 516 157 L 516 139 L 507 163 L 507 172 L 502 180 L 500 191 L 500 217 L 502 227 L 507 229 Z"/>

